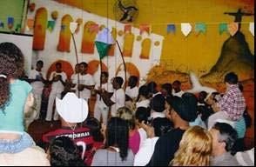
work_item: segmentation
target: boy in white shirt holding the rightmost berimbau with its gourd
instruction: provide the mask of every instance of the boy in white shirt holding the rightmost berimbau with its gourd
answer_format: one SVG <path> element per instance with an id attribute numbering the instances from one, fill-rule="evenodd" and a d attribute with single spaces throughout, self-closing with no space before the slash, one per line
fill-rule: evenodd
<path id="1" fill-rule="evenodd" d="M 114 93 L 110 96 L 107 91 L 102 90 L 101 95 L 104 103 L 109 107 L 111 106 L 111 117 L 116 117 L 117 110 L 125 106 L 125 90 L 122 88 L 123 83 L 124 80 L 122 77 L 114 77 L 112 81 Z"/>

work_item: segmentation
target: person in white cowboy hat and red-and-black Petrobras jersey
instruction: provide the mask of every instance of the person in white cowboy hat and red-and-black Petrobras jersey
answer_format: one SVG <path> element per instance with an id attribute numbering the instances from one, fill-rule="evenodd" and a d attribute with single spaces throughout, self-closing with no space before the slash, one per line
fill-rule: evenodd
<path id="1" fill-rule="evenodd" d="M 61 128 L 50 131 L 43 136 L 43 142 L 50 144 L 57 137 L 71 137 L 74 142 L 83 148 L 82 158 L 90 157 L 93 147 L 91 130 L 83 127 L 82 123 L 88 116 L 88 104 L 82 98 L 77 98 L 75 93 L 67 93 L 62 100 L 56 98 L 56 108 L 61 120 Z"/>

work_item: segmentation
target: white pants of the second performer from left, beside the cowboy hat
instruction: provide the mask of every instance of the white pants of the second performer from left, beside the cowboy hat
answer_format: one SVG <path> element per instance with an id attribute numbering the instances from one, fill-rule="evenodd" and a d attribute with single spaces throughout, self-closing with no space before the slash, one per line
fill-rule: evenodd
<path id="1" fill-rule="evenodd" d="M 56 97 L 60 98 L 61 97 L 61 93 L 55 92 L 55 91 L 51 91 L 50 96 L 49 96 L 49 100 L 48 100 L 47 114 L 46 114 L 46 117 L 45 117 L 46 121 L 51 121 L 51 118 L 52 118 L 52 108 L 53 108 L 53 104 L 55 102 L 55 98 Z M 57 110 L 56 109 L 54 110 L 53 120 L 55 120 L 55 121 L 58 120 L 58 114 L 57 114 Z"/>

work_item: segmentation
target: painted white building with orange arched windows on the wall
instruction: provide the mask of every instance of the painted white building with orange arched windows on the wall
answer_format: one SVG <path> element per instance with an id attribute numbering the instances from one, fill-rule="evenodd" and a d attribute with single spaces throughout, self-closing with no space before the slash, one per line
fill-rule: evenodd
<path id="1" fill-rule="evenodd" d="M 129 30 L 125 31 L 125 35 L 119 35 L 119 31 L 124 32 L 125 30 L 125 24 L 123 23 L 117 23 L 116 21 L 110 19 L 108 19 L 108 22 L 106 23 L 105 17 L 99 17 L 87 11 L 74 9 L 69 5 L 57 3 L 51 0 L 34 0 L 32 3 L 36 3 L 38 9 L 44 8 L 50 13 L 57 12 L 58 15 L 58 17 L 54 19 L 55 28 L 51 31 L 49 30 L 50 33 L 45 32 L 44 39 L 46 43 L 44 44 L 44 49 L 41 49 L 39 52 L 33 52 L 34 60 L 32 62 L 35 63 L 39 59 L 43 60 L 46 70 L 51 68 L 52 64 L 54 64 L 57 60 L 71 63 L 72 67 L 75 66 L 75 50 L 73 43 L 71 43 L 71 31 L 69 29 L 69 24 L 71 22 L 78 23 L 74 37 L 77 43 L 79 62 L 90 63 L 89 69 L 91 73 L 95 73 L 95 77 L 99 76 L 97 75 L 98 69 L 96 67 L 98 63 L 95 63 L 98 61 L 98 51 L 95 50 L 94 41 L 98 35 L 98 32 L 104 27 L 111 30 L 113 39 L 118 40 L 121 50 L 125 56 L 125 62 L 127 63 L 127 66 L 129 66 L 127 69 L 129 71 L 131 70 L 132 74 L 135 73 L 136 76 L 141 77 L 140 83 L 146 82 L 148 71 L 152 68 L 152 65 L 157 65 L 160 61 L 164 39 L 162 36 L 155 33 L 144 33 L 141 35 L 140 30 L 136 27 L 133 27 L 132 30 L 130 27 Z M 81 13 L 81 15 L 77 15 L 77 13 Z M 35 16 L 35 13 L 29 12 L 27 17 L 30 19 L 37 16 Z M 49 17 L 51 16 L 45 16 L 45 19 L 48 20 Z M 30 34 L 35 32 L 36 31 L 33 30 L 27 30 L 27 33 Z M 141 39 L 139 41 L 135 41 L 135 37 L 138 36 Z M 35 39 L 36 38 L 37 37 L 35 37 Z M 146 39 L 145 42 L 144 39 Z M 147 41 L 151 42 L 147 43 Z M 158 45 L 154 45 L 152 42 L 157 42 Z M 109 71 L 111 78 L 118 73 L 118 67 L 120 67 L 122 64 L 121 55 L 116 43 L 111 45 L 111 49 L 109 50 L 108 54 L 109 57 L 104 57 L 103 63 L 105 66 L 104 69 Z M 140 57 L 140 54 L 143 56 Z M 143 66 L 144 68 L 138 68 L 139 66 Z"/>

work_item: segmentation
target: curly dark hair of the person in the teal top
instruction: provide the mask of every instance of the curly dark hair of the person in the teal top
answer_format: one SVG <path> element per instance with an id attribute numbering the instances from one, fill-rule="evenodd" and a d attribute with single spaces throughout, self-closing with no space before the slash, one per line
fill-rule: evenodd
<path id="1" fill-rule="evenodd" d="M 24 71 L 24 55 L 14 43 L 0 43 L 0 109 L 10 100 L 10 77 L 21 77 Z"/>

